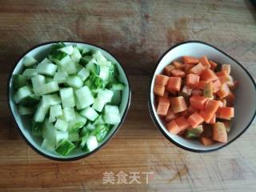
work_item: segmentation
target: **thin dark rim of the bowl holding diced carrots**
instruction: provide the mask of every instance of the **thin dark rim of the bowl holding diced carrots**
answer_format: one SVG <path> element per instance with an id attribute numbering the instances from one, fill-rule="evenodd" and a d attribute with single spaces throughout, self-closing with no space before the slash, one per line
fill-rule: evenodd
<path id="1" fill-rule="evenodd" d="M 239 138 L 249 127 L 250 127 L 250 124 L 254 121 L 254 118 L 256 116 L 256 108 L 255 108 L 255 111 L 254 111 L 254 115 L 253 115 L 253 118 L 251 118 L 250 122 L 247 124 L 247 126 L 242 130 L 242 132 L 240 134 L 238 134 L 236 137 L 234 137 L 232 140 L 230 140 L 230 142 L 226 142 L 225 144 L 223 144 L 222 146 L 218 146 L 217 148 L 214 148 L 214 149 L 209 149 L 209 150 L 195 150 L 195 149 L 192 149 L 190 147 L 187 147 L 187 146 L 183 146 L 182 144 L 180 144 L 179 142 L 175 142 L 173 138 L 170 138 L 164 130 L 162 130 L 162 127 L 160 126 L 158 120 L 155 118 L 154 116 L 154 111 L 153 111 L 153 106 L 151 106 L 151 99 L 150 99 L 150 95 L 151 95 L 151 86 L 153 84 L 153 78 L 154 78 L 154 73 L 155 73 L 155 70 L 158 68 L 158 65 L 159 63 L 162 61 L 162 58 L 166 56 L 166 54 L 168 54 L 170 52 L 170 50 L 173 50 L 175 47 L 177 46 L 182 46 L 183 44 L 187 44 L 187 43 L 199 43 L 199 44 L 203 44 L 203 45 L 206 45 L 206 46 L 210 46 L 212 48 L 214 48 L 215 50 L 218 50 L 220 53 L 224 54 L 226 57 L 230 58 L 231 60 L 233 60 L 234 62 L 236 62 L 238 64 L 238 66 L 241 66 L 243 70 L 246 71 L 246 74 L 250 77 L 250 80 L 251 82 L 253 82 L 254 84 L 254 91 L 256 91 L 256 83 L 254 82 L 254 78 L 252 78 L 251 74 L 248 72 L 248 70 L 246 70 L 246 68 L 244 66 L 242 66 L 242 64 L 240 62 L 238 62 L 236 59 L 232 58 L 229 54 L 226 54 L 224 51 L 218 49 L 216 46 L 212 46 L 210 45 L 209 43 L 207 42 L 202 42 L 202 41 L 198 41 L 198 40 L 191 40 L 191 41 L 185 41 L 185 42 L 180 42 L 180 43 L 177 43 L 175 44 L 174 46 L 170 46 L 170 48 L 168 50 L 166 50 L 166 52 L 164 52 L 164 54 L 162 54 L 162 56 L 158 59 L 158 62 L 156 64 L 156 66 L 154 67 L 154 71 L 151 75 L 151 78 L 150 78 L 150 86 L 149 86 L 149 89 L 148 89 L 148 108 L 150 110 L 150 117 L 151 119 L 153 120 L 154 122 L 154 125 L 158 127 L 158 129 L 161 131 L 161 133 L 172 143 L 174 143 L 174 145 L 182 148 L 183 150 L 188 150 L 188 151 L 191 151 L 191 152 L 195 152 L 195 153 L 209 153 L 209 152 L 212 152 L 214 150 L 220 150 L 222 149 L 222 147 L 224 146 L 228 146 L 231 142 L 234 142 L 234 140 L 236 140 L 237 138 Z"/>

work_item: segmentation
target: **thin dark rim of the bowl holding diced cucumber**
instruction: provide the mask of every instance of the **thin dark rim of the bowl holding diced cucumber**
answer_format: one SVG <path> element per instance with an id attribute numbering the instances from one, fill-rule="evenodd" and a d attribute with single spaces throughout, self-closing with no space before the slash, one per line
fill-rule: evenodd
<path id="1" fill-rule="evenodd" d="M 124 110 L 124 114 L 122 115 L 122 118 L 121 118 L 121 121 L 119 122 L 117 128 L 114 130 L 113 134 L 110 135 L 109 138 L 106 139 L 105 142 L 102 142 L 101 146 L 97 147 L 95 150 L 92 150 L 90 151 L 89 153 L 86 153 L 86 154 L 82 154 L 82 155 L 79 155 L 79 156 L 76 156 L 76 157 L 72 157 L 72 158 L 56 158 L 56 157 L 53 157 L 51 155 L 48 155 L 48 154 L 45 154 L 44 152 L 38 150 L 32 143 L 30 143 L 30 141 L 26 138 L 26 136 L 22 133 L 22 130 L 21 128 L 18 126 L 18 123 L 16 121 L 16 118 L 14 117 L 14 113 L 10 107 L 10 79 L 14 73 L 14 69 L 17 67 L 18 65 L 18 62 L 21 61 L 22 58 L 24 58 L 26 56 L 26 54 L 30 53 L 31 50 L 34 50 L 40 46 L 45 46 L 45 45 L 49 45 L 49 44 L 54 44 L 54 43 L 58 43 L 58 42 L 68 42 L 68 43 L 82 43 L 82 44 L 86 44 L 86 45 L 89 45 L 89 46 L 95 46 L 96 48 L 99 48 L 99 49 L 102 49 L 104 51 L 106 51 L 106 53 L 110 54 L 114 59 L 116 59 L 118 61 L 118 64 L 120 65 L 120 67 L 122 68 L 122 70 L 124 71 L 124 74 L 126 76 L 126 79 L 127 79 L 127 82 L 128 82 L 128 102 L 126 103 L 126 108 Z M 126 73 L 126 70 L 124 69 L 124 67 L 122 66 L 122 63 L 118 60 L 118 58 L 116 58 L 114 56 L 114 54 L 111 54 L 110 51 L 106 50 L 105 48 L 102 48 L 102 46 L 96 46 L 92 43 L 88 43 L 88 42 L 81 42 L 81 41 L 50 41 L 50 42 L 42 42 L 36 46 L 32 46 L 29 50 L 26 50 L 26 52 L 24 54 L 22 54 L 22 56 L 20 56 L 14 66 L 12 67 L 11 71 L 10 71 L 10 74 L 9 74 L 9 77 L 8 77 L 8 80 L 7 80 L 7 101 L 8 101 L 8 106 L 9 106 L 9 110 L 10 110 L 10 114 L 11 114 L 11 117 L 13 118 L 16 126 L 18 127 L 18 132 L 19 134 L 22 136 L 23 140 L 26 142 L 26 144 L 28 146 L 30 146 L 35 152 L 37 152 L 38 154 L 42 155 L 43 157 L 45 158 L 49 158 L 50 160 L 54 160 L 54 161 L 58 161 L 58 162 L 71 162 L 71 161 L 76 161 L 76 160 L 79 160 L 79 159 L 82 159 L 82 158 L 86 158 L 86 157 L 89 157 L 91 154 L 94 154 L 95 152 L 97 152 L 98 150 L 102 149 L 103 146 L 106 145 L 107 142 L 110 141 L 110 139 L 114 138 L 114 135 L 118 132 L 118 130 L 121 128 L 123 122 L 125 121 L 126 119 L 126 116 L 128 114 L 128 110 L 130 109 L 130 102 L 131 102 L 131 86 L 130 86 L 130 80 L 128 78 L 128 75 Z"/>

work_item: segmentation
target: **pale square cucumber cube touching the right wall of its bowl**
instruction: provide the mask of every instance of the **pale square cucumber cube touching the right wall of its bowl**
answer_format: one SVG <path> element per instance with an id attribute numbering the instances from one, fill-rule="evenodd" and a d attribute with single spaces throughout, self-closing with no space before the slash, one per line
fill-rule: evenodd
<path id="1" fill-rule="evenodd" d="M 118 106 L 105 106 L 104 120 L 110 125 L 117 125 L 119 122 L 121 122 L 121 115 L 119 113 Z"/>

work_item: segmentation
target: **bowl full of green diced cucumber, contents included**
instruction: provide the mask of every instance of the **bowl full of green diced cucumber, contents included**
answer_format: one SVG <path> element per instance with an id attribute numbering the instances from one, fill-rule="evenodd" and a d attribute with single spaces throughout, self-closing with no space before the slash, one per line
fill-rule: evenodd
<path id="1" fill-rule="evenodd" d="M 28 50 L 8 89 L 25 141 L 58 161 L 85 158 L 104 146 L 130 107 L 130 84 L 120 62 L 83 42 L 46 42 Z"/>

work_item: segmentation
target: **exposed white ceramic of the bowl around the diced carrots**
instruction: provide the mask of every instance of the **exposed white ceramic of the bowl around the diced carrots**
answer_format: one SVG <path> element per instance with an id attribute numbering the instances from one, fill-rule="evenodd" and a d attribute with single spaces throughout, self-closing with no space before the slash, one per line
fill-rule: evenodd
<path id="1" fill-rule="evenodd" d="M 213 146 L 202 146 L 198 141 L 182 138 L 178 135 L 170 134 L 162 120 L 156 113 L 156 107 L 154 106 L 154 78 L 156 74 L 160 74 L 165 66 L 169 65 L 172 61 L 181 58 L 184 55 L 193 56 L 196 58 L 206 55 L 211 60 L 218 63 L 229 63 L 231 65 L 231 75 L 234 79 L 238 80 L 239 86 L 235 90 L 236 101 L 234 104 L 234 122 L 231 127 L 230 134 L 228 135 L 228 141 L 226 143 L 215 143 Z M 237 62 L 230 55 L 226 54 L 222 50 L 207 44 L 206 42 L 190 41 L 182 42 L 178 45 L 170 47 L 165 54 L 158 60 L 156 69 L 154 70 L 153 77 L 150 81 L 150 89 L 148 94 L 148 105 L 150 109 L 150 115 L 154 123 L 161 130 L 162 134 L 166 136 L 177 146 L 194 152 L 208 152 L 212 150 L 218 150 L 223 146 L 227 146 L 230 142 L 234 142 L 239 136 L 241 136 L 246 129 L 250 126 L 254 120 L 256 113 L 256 86 L 254 79 L 242 64 Z"/>

